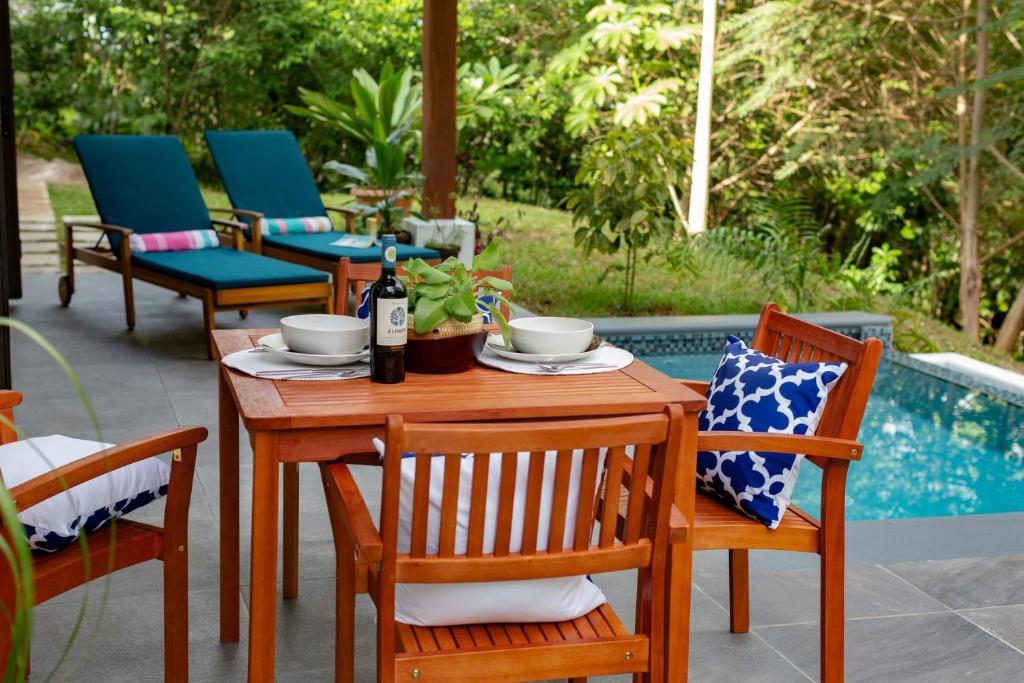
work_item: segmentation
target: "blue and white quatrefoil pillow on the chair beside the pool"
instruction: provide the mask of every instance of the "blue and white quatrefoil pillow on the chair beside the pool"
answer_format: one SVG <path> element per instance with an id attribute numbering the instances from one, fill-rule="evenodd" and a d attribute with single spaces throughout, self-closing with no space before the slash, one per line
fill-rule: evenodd
<path id="1" fill-rule="evenodd" d="M 845 362 L 783 362 L 729 337 L 708 385 L 700 431 L 773 432 L 811 436 Z M 797 484 L 803 455 L 754 451 L 697 453 L 703 490 L 775 528 Z"/>

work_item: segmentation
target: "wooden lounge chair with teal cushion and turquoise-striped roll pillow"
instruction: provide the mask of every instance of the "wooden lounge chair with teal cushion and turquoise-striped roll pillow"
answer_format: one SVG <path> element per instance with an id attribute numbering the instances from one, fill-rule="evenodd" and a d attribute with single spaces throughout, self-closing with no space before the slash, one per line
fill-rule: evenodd
<path id="1" fill-rule="evenodd" d="M 310 218 L 334 212 L 345 218 L 346 231 L 354 231 L 354 210 L 324 206 L 299 141 L 291 131 L 208 130 L 204 137 L 231 202 L 232 208 L 223 211 L 233 213 L 250 226 L 263 217 Z M 264 236 L 258 229 L 246 230 L 256 253 L 301 263 L 332 275 L 342 258 L 352 263 L 380 261 L 380 250 L 376 248 L 332 246 L 342 234 L 332 231 Z M 398 245 L 399 261 L 433 260 L 439 256 L 433 249 Z"/>

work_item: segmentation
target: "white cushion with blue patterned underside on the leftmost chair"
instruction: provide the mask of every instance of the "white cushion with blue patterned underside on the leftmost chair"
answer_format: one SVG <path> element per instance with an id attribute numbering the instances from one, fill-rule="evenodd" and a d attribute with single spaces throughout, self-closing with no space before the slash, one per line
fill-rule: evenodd
<path id="1" fill-rule="evenodd" d="M 54 434 L 0 445 L 7 488 L 113 444 Z M 110 520 L 167 495 L 171 468 L 158 458 L 132 463 L 18 512 L 33 550 L 55 552 Z"/>

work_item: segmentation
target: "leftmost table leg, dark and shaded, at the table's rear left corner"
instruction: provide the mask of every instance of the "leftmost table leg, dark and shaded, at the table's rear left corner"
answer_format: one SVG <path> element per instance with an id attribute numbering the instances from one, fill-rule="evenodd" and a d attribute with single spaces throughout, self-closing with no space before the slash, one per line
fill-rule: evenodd
<path id="1" fill-rule="evenodd" d="M 219 370 L 220 642 L 239 640 L 239 411 Z"/>

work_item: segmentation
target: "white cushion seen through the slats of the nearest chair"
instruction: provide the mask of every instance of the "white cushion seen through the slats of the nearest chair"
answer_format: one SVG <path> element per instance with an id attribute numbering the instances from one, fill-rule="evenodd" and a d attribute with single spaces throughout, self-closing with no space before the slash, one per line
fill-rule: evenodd
<path id="1" fill-rule="evenodd" d="M 383 457 L 384 443 L 374 439 Z M 516 493 L 512 510 L 510 552 L 522 548 L 523 517 L 526 506 L 526 476 L 529 454 L 518 454 Z M 601 451 L 604 458 L 604 451 Z M 495 549 L 498 526 L 501 454 L 492 454 L 487 472 L 486 515 L 483 522 L 483 552 Z M 459 475 L 459 505 L 456 513 L 455 552 L 465 553 L 469 539 L 469 508 L 472 500 L 473 456 L 465 455 Z M 547 548 L 551 521 L 552 488 L 556 456 L 548 452 L 541 489 L 538 550 Z M 572 454 L 569 496 L 566 502 L 564 547 L 572 546 L 579 502 L 583 451 Z M 599 468 L 600 469 L 600 468 Z M 401 493 L 398 502 L 398 552 L 409 552 L 413 522 L 413 484 L 416 459 L 403 458 Z M 444 459 L 433 458 L 430 466 L 430 502 L 427 513 L 427 554 L 436 554 L 440 535 L 440 506 L 444 486 Z M 563 622 L 583 616 L 607 602 L 604 593 L 587 577 L 558 577 L 530 581 L 479 582 L 468 584 L 398 584 L 395 587 L 395 620 L 413 626 L 455 626 L 522 622 Z"/>

